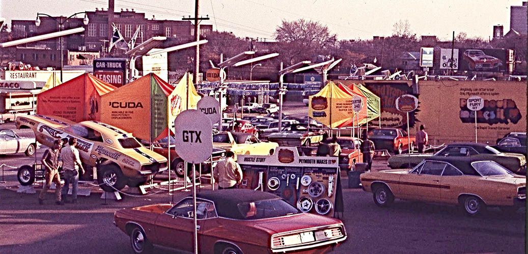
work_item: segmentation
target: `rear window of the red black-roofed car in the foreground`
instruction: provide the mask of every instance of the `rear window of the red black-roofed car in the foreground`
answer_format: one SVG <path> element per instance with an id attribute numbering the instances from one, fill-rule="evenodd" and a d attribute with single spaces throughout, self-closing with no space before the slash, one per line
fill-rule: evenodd
<path id="1" fill-rule="evenodd" d="M 282 199 L 243 202 L 237 204 L 237 208 L 241 218 L 246 220 L 274 218 L 301 212 Z"/>

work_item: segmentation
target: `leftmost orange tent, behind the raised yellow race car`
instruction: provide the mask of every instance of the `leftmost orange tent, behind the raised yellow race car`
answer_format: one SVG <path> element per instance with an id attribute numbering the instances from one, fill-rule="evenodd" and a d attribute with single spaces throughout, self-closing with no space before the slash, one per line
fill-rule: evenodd
<path id="1" fill-rule="evenodd" d="M 100 119 L 101 95 L 116 87 L 84 73 L 72 80 L 39 93 L 37 114 L 60 116 L 73 122 Z"/>

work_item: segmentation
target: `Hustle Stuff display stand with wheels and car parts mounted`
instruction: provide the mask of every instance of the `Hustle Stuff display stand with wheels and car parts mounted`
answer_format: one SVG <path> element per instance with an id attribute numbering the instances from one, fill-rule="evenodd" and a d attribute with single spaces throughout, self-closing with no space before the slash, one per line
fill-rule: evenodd
<path id="1" fill-rule="evenodd" d="M 239 188 L 276 194 L 303 212 L 334 216 L 344 210 L 337 157 L 299 156 L 295 147 L 279 146 L 269 156 L 238 155 L 238 163 Z"/>

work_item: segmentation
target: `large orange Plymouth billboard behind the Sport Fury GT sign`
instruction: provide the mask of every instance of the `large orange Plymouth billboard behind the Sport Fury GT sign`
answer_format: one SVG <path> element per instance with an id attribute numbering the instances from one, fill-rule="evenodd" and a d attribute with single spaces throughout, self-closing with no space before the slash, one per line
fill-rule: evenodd
<path id="1" fill-rule="evenodd" d="M 513 81 L 420 81 L 417 120 L 426 125 L 429 143 L 475 140 L 494 144 L 509 132 L 526 132 L 526 83 Z M 468 109 L 472 96 L 484 107 Z M 384 109 L 385 110 L 385 109 Z"/>

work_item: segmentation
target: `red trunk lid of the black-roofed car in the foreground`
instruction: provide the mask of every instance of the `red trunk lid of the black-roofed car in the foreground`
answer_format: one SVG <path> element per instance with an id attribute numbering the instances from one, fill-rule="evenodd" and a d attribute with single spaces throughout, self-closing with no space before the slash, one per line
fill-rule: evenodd
<path id="1" fill-rule="evenodd" d="M 342 223 L 341 220 L 320 216 L 312 213 L 299 213 L 293 216 L 256 221 L 255 226 L 268 229 L 275 233 L 329 226 Z"/>

